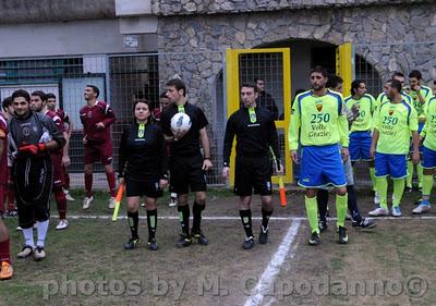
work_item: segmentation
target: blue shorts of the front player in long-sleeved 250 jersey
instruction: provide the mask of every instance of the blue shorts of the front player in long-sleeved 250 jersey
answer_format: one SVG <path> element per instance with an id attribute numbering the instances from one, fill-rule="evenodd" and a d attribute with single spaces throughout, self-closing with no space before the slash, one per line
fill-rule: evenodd
<path id="1" fill-rule="evenodd" d="M 299 185 L 305 188 L 318 188 L 324 185 L 346 186 L 339 146 L 302 147 Z"/>

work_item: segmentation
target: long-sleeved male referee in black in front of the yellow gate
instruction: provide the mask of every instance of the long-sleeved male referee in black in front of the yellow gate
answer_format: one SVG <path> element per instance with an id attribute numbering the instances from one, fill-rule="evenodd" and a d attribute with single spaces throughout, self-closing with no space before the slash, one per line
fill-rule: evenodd
<path id="1" fill-rule="evenodd" d="M 272 149 L 282 171 L 276 124 L 270 111 L 256 105 L 257 89 L 255 85 L 241 86 L 241 108 L 230 115 L 223 144 L 222 176 L 229 176 L 229 161 L 234 135 L 237 135 L 237 159 L 234 171 L 234 193 L 240 196 L 239 212 L 245 230 L 246 238 L 243 248 L 254 246 L 252 230 L 252 211 L 250 208 L 253 188 L 262 199 L 262 224 L 258 241 L 268 242 L 268 220 L 272 215 L 271 161 Z"/>

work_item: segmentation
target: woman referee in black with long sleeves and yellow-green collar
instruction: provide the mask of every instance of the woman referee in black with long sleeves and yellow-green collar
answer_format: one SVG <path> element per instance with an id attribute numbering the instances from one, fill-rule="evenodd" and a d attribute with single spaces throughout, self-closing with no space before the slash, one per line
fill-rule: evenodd
<path id="1" fill-rule="evenodd" d="M 125 183 L 128 196 L 128 219 L 132 236 L 125 249 L 135 248 L 140 242 L 137 234 L 140 198 L 145 196 L 147 210 L 148 248 L 157 250 L 157 198 L 168 185 L 168 159 L 164 135 L 150 122 L 150 108 L 145 99 L 133 106 L 134 121 L 124 128 L 119 155 L 120 184 Z"/>

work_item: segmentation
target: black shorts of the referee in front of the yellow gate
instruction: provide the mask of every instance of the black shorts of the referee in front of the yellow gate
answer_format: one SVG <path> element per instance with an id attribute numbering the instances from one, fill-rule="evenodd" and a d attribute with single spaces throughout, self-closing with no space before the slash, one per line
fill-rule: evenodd
<path id="1" fill-rule="evenodd" d="M 234 194 L 251 196 L 255 194 L 269 196 L 272 194 L 271 162 L 269 157 L 238 157 L 234 169 Z"/>

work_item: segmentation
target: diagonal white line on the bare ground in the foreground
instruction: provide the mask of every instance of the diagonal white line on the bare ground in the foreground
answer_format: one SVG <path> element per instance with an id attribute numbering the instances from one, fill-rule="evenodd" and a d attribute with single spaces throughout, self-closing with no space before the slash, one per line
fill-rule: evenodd
<path id="1" fill-rule="evenodd" d="M 300 220 L 292 222 L 292 225 L 284 235 L 278 250 L 276 254 L 274 254 L 268 267 L 266 267 L 261 280 L 257 282 L 256 287 L 254 289 L 254 293 L 256 294 L 250 296 L 244 306 L 257 306 L 262 304 L 264 301 L 264 293 L 268 293 L 269 287 L 274 285 L 274 281 L 280 271 L 281 265 L 283 265 L 284 259 L 288 257 L 288 254 L 290 253 L 290 256 L 293 256 L 292 253 L 294 253 L 295 248 L 293 248 L 291 252 L 290 248 L 299 232 L 300 223 Z"/>

